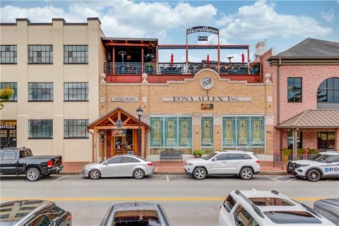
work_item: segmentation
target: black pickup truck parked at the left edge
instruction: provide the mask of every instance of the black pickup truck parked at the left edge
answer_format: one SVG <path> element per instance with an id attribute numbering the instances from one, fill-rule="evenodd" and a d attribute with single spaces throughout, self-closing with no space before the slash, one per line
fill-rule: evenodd
<path id="1" fill-rule="evenodd" d="M 0 150 L 0 174 L 26 174 L 26 179 L 35 182 L 41 176 L 58 173 L 63 168 L 61 155 L 33 156 L 29 148 L 4 148 Z"/>

